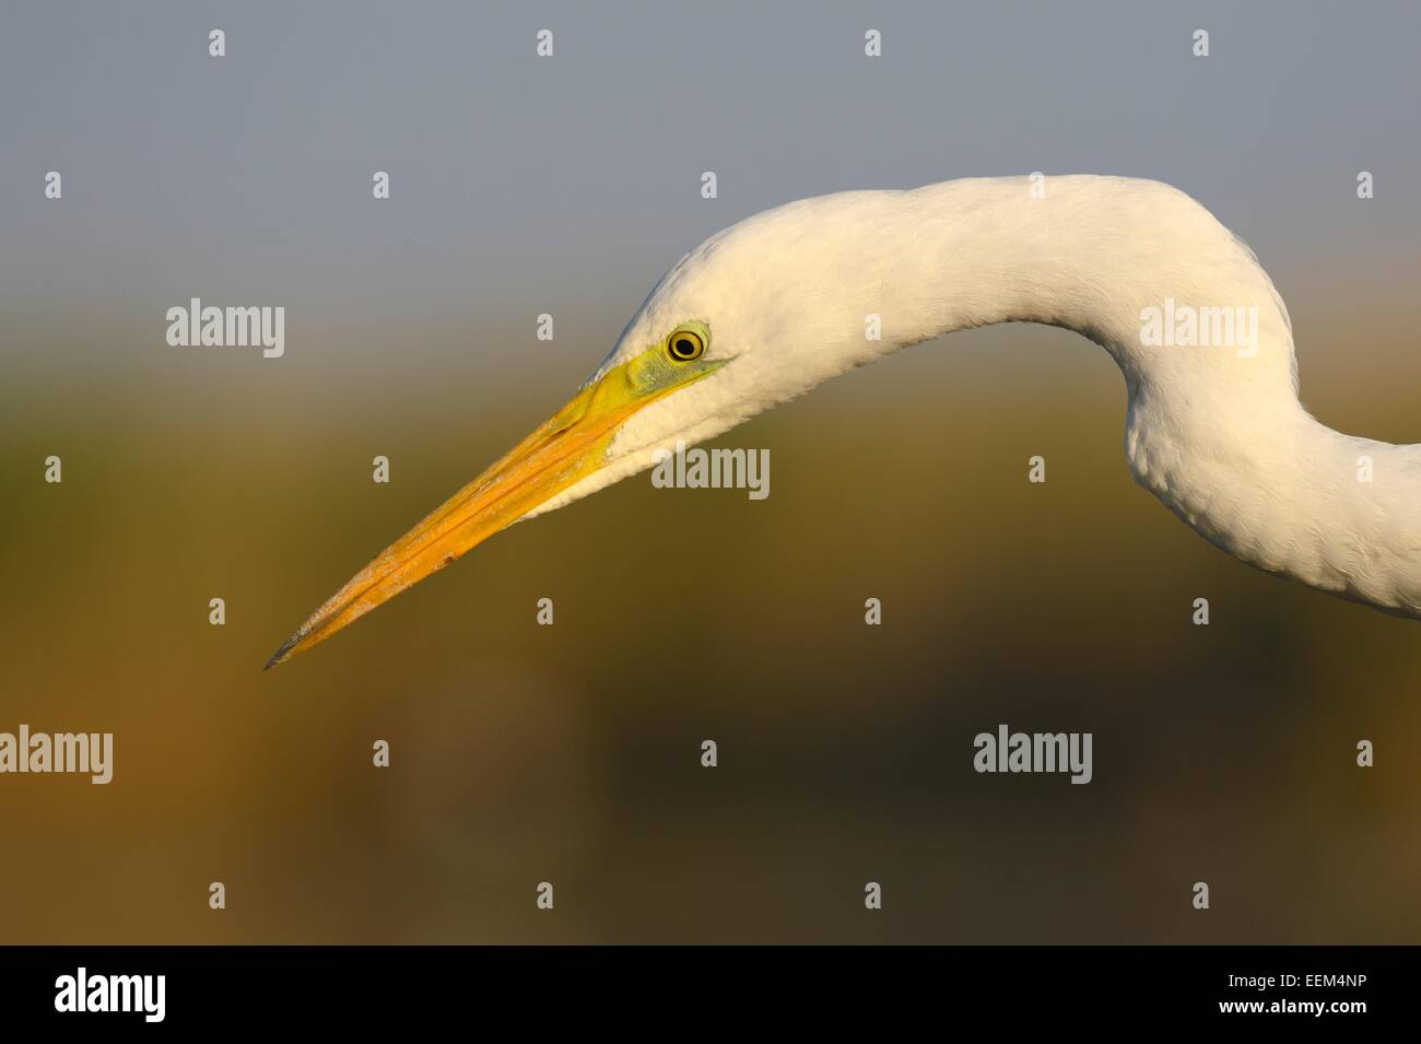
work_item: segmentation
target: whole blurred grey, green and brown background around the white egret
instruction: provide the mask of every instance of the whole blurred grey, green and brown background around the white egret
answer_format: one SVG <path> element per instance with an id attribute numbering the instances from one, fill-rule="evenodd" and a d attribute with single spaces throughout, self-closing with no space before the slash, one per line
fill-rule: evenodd
<path id="1" fill-rule="evenodd" d="M 730 432 L 770 449 L 764 501 L 639 476 L 260 669 L 685 250 L 801 196 L 1168 180 L 1273 276 L 1309 408 L 1421 440 L 1415 7 L 3 20 L 0 732 L 112 732 L 115 774 L 0 777 L 0 940 L 1421 937 L 1421 625 L 1189 533 L 1130 480 L 1114 365 L 1060 330 L 958 334 Z M 284 305 L 284 358 L 168 347 L 190 297 Z M 1094 781 L 978 776 L 998 723 L 1093 732 Z"/>

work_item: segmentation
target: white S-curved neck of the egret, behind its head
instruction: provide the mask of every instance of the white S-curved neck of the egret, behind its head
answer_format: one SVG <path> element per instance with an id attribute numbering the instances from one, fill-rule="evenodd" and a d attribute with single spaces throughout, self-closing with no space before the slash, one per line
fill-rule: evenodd
<path id="1" fill-rule="evenodd" d="M 1259 568 L 1421 615 L 1421 446 L 1307 415 L 1292 325 L 1253 253 L 1155 182 L 1032 187 L 986 179 L 919 190 L 941 193 L 932 200 L 907 193 L 909 207 L 952 214 L 929 251 L 936 264 L 921 268 L 945 274 L 951 293 L 929 328 L 898 344 L 1010 321 L 1083 334 L 1125 376 L 1135 480 L 1184 521 Z"/>

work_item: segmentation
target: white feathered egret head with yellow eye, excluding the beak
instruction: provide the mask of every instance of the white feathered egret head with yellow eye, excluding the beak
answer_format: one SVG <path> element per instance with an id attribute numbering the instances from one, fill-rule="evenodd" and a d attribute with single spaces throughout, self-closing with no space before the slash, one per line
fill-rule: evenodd
<path id="1" fill-rule="evenodd" d="M 882 341 L 865 338 L 863 270 L 845 276 L 844 229 L 823 220 L 834 199 L 740 222 L 662 277 L 583 388 L 583 396 L 625 388 L 608 402 L 630 408 L 590 462 L 597 467 L 529 514 L 635 474 L 678 442 L 710 439 L 882 354 Z"/>

